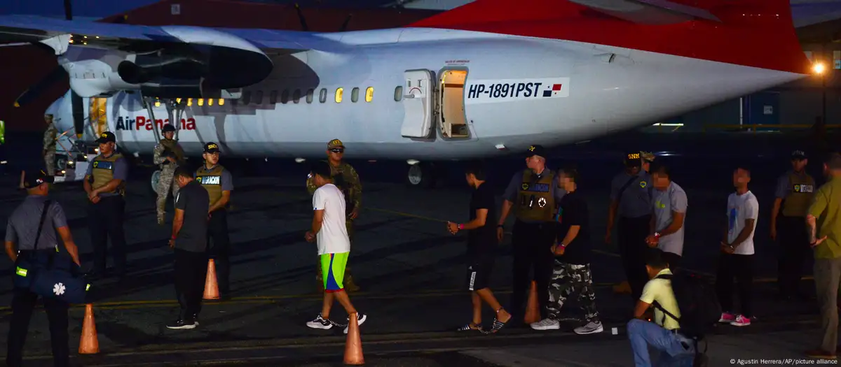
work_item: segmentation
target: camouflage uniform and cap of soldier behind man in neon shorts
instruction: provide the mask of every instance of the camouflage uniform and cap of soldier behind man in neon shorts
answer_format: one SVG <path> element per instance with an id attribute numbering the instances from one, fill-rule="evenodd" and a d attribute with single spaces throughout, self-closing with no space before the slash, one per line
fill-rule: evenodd
<path id="1" fill-rule="evenodd" d="M 335 139 L 327 144 L 327 148 L 331 149 L 332 147 L 341 146 L 341 144 L 341 141 Z M 350 164 L 341 162 L 338 166 L 334 167 L 331 163 L 330 168 L 331 175 L 333 176 L 333 183 L 341 190 L 341 194 L 345 195 L 345 213 L 348 215 L 346 220 L 347 236 L 350 238 L 352 244 L 353 220 L 349 216 L 353 212 L 353 209 L 362 207 L 362 183 L 359 181 L 357 171 L 353 169 Z M 315 181 L 313 178 L 307 178 L 307 192 L 309 192 L 310 195 L 315 194 L 315 189 L 318 188 L 315 187 Z M 318 262 L 315 267 L 318 269 L 318 275 L 315 279 L 319 283 L 320 289 L 323 290 L 324 281 L 321 275 L 321 263 Z M 353 282 L 351 266 L 349 265 L 345 266 L 345 277 L 342 282 L 348 292 L 355 292 L 359 290 L 359 287 Z"/>

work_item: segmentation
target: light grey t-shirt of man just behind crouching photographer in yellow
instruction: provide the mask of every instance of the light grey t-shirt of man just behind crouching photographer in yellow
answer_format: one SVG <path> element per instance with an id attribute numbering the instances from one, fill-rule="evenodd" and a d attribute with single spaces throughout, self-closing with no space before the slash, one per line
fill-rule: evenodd
<path id="1" fill-rule="evenodd" d="M 686 227 L 686 192 L 677 183 L 669 183 L 665 191 L 653 190 L 654 230 L 661 232 L 672 224 L 672 211 L 684 214 L 684 224 L 671 235 L 660 237 L 660 250 L 683 256 L 684 228 Z"/>

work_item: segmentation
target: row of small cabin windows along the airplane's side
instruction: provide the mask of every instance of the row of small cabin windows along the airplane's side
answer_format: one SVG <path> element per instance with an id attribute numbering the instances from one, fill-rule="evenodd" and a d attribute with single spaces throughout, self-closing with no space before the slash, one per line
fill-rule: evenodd
<path id="1" fill-rule="evenodd" d="M 307 90 L 307 94 L 305 95 L 305 100 L 307 101 L 307 103 L 312 103 L 313 102 L 314 93 L 315 93 L 314 89 Z M 335 94 L 333 100 L 336 101 L 336 103 L 341 103 L 342 98 L 344 97 L 343 96 L 344 93 L 345 93 L 344 88 L 336 88 L 336 94 Z M 253 101 L 251 100 L 251 90 L 246 90 L 246 91 L 242 92 L 242 97 L 239 100 L 234 100 L 234 105 L 236 105 L 239 101 L 241 101 L 242 103 L 244 103 L 246 105 L 249 104 L 249 103 L 252 103 L 252 102 L 256 105 L 260 105 L 260 104 L 262 104 L 262 99 L 263 99 L 262 90 L 257 90 L 256 92 L 254 92 Z M 398 85 L 397 87 L 394 88 L 394 101 L 401 101 L 402 99 L 403 99 L 403 86 Z M 320 103 L 325 103 L 327 101 L 327 89 L 326 88 L 321 88 L 321 90 L 319 90 L 318 100 L 319 100 Z M 177 98 L 176 101 L 178 103 L 180 103 L 181 98 Z M 301 90 L 296 89 L 296 90 L 294 90 L 294 92 L 292 92 L 292 102 L 297 104 L 300 101 L 301 101 Z M 351 90 L 351 101 L 353 103 L 356 103 L 357 101 L 359 101 L 359 88 L 358 87 L 353 88 Z M 365 90 L 365 101 L 366 102 L 373 101 L 373 86 L 369 86 Z M 204 106 L 204 98 L 198 98 L 198 99 L 196 99 L 196 102 L 197 102 L 198 106 Z M 288 102 L 289 102 L 289 90 L 283 90 L 283 92 L 280 93 L 280 103 L 283 103 L 285 105 Z M 160 103 L 161 103 L 160 101 L 156 101 L 155 106 L 161 106 Z M 275 103 L 278 103 L 278 91 L 277 90 L 272 90 L 272 92 L 269 93 L 268 103 L 270 103 L 272 105 L 275 104 Z M 208 106 L 213 106 L 214 105 L 214 99 L 208 98 L 207 99 L 207 104 L 208 104 Z M 220 98 L 219 99 L 219 106 L 224 106 L 224 105 L 225 105 L 225 100 Z M 187 106 L 193 106 L 193 98 L 188 98 Z"/>

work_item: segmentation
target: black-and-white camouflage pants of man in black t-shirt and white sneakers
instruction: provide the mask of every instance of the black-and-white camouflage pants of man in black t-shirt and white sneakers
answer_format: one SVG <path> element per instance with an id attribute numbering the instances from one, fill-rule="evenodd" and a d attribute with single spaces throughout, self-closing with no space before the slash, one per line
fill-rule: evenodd
<path id="1" fill-rule="evenodd" d="M 599 312 L 595 310 L 595 287 L 590 274 L 590 264 L 574 265 L 555 259 L 552 271 L 552 284 L 549 286 L 547 311 L 549 318 L 558 319 L 563 302 L 573 292 L 578 292 L 578 302 L 584 310 L 588 323 L 599 322 Z"/>

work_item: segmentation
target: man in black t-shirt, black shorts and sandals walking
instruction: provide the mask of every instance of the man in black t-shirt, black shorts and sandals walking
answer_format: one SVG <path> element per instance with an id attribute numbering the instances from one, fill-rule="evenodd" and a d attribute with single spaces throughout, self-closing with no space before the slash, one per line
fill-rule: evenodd
<path id="1" fill-rule="evenodd" d="M 453 235 L 459 230 L 470 230 L 467 288 L 473 292 L 473 322 L 458 328 L 458 331 L 484 331 L 482 329 L 482 301 L 484 300 L 496 312 L 493 327 L 489 331 L 489 333 L 495 333 L 511 319 L 511 315 L 500 306 L 500 302 L 496 301 L 494 293 L 488 287 L 498 244 L 496 227 L 493 223 L 493 219 L 496 218 L 495 195 L 489 185 L 484 183 L 484 169 L 478 163 L 468 166 L 464 177 L 473 187 L 473 196 L 470 199 L 470 221 L 461 225 L 447 222 L 447 230 Z"/>

